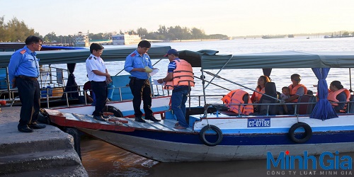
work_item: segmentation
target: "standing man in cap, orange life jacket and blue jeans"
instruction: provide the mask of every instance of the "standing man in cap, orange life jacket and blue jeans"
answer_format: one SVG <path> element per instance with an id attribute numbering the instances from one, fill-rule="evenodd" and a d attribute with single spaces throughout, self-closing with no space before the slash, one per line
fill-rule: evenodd
<path id="1" fill-rule="evenodd" d="M 185 102 L 187 101 L 190 86 L 194 86 L 194 78 L 193 69 L 190 64 L 183 59 L 179 59 L 178 56 L 179 53 L 175 49 L 169 50 L 167 54 L 164 55 L 164 57 L 169 57 L 170 60 L 168 74 L 164 79 L 159 79 L 157 80 L 157 82 L 159 82 L 159 84 L 162 84 L 165 81 L 165 89 L 169 86 L 173 86 L 171 96 L 171 108 L 173 110 L 173 114 L 176 115 L 176 118 L 178 120 L 174 128 L 185 129 L 188 128 L 188 123 L 185 120 Z M 181 75 L 183 76 L 189 76 L 180 79 L 175 75 L 175 78 L 173 78 L 173 72 L 175 74 L 178 74 L 176 71 L 181 71 L 181 73 L 183 73 Z"/>

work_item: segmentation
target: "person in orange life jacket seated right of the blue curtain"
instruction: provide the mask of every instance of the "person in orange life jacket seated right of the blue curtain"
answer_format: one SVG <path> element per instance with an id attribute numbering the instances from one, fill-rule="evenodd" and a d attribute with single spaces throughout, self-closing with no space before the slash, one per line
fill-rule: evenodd
<path id="1" fill-rule="evenodd" d="M 327 97 L 329 101 L 349 101 L 350 91 L 344 89 L 340 81 L 332 81 L 329 85 L 329 90 L 329 96 Z M 346 103 L 331 103 L 331 105 L 337 113 L 345 113 L 346 111 Z"/>

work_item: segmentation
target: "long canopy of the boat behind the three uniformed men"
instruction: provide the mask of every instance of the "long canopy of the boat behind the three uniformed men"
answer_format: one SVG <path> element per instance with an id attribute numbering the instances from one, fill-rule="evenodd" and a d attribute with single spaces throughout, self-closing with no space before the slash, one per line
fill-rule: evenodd
<path id="1" fill-rule="evenodd" d="M 105 62 L 125 61 L 125 57 L 137 47 L 105 48 L 102 58 Z M 170 50 L 170 46 L 152 46 L 149 50 L 151 59 L 161 59 Z M 7 67 L 13 52 L 0 52 L 0 67 Z M 89 49 L 38 51 L 40 64 L 69 64 L 85 62 L 90 55 Z"/>

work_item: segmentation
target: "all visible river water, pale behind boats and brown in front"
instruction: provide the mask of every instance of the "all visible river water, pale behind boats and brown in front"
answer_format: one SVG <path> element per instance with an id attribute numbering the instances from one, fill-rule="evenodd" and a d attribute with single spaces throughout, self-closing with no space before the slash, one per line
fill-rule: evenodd
<path id="1" fill-rule="evenodd" d="M 299 36 L 295 38 L 268 39 L 247 38 L 238 40 L 215 40 L 215 41 L 198 41 L 198 42 L 164 42 L 153 43 L 156 45 L 170 45 L 176 50 L 218 50 L 219 54 L 241 54 L 250 52 L 273 52 L 284 50 L 296 51 L 352 51 L 354 50 L 354 38 L 333 38 L 324 39 L 323 36 Z M 112 47 L 112 46 L 105 46 Z M 88 54 L 89 56 L 89 54 Z M 103 58 L 104 60 L 104 58 Z M 159 62 L 155 67 L 160 72 L 154 76 L 159 79 L 166 74 L 168 60 Z M 153 62 L 154 64 L 154 62 Z M 58 64 L 59 65 L 59 64 Z M 108 72 L 115 75 L 121 71 L 124 62 L 114 62 L 107 64 Z M 57 66 L 62 67 L 62 66 Z M 198 76 L 199 69 L 195 69 Z M 282 86 L 288 86 L 291 74 L 300 74 L 302 76 L 302 84 L 308 89 L 316 92 L 313 86 L 317 84 L 316 76 L 311 69 L 273 69 L 271 79 L 275 82 L 277 90 L 280 91 Z M 348 69 L 331 69 L 327 77 L 328 84 L 333 80 L 341 81 L 343 86 L 351 89 Z M 127 74 L 122 72 L 121 74 Z M 221 76 L 232 80 L 238 84 L 242 84 L 249 88 L 255 88 L 257 79 L 263 75 L 261 69 L 237 69 L 237 71 L 222 71 Z M 75 71 L 76 82 L 83 85 L 86 82 L 86 69 L 84 63 L 78 64 Z M 211 79 L 207 76 L 207 79 Z M 243 89 L 235 84 L 227 83 L 222 80 L 215 80 L 218 84 L 228 89 Z M 202 89 L 198 87 L 200 81 L 193 88 L 193 95 L 201 95 Z M 216 86 L 210 86 L 207 94 L 227 94 L 228 91 L 219 89 Z M 252 93 L 252 91 L 249 91 Z M 208 101 L 209 102 L 209 101 Z M 210 102 L 219 102 L 219 99 Z M 193 103 L 197 103 L 193 100 Z M 114 147 L 101 140 L 84 137 L 81 141 L 82 163 L 89 176 L 346 176 L 341 171 L 336 173 L 296 173 L 290 175 L 276 174 L 267 172 L 266 160 L 249 160 L 249 161 L 225 161 L 225 162 L 198 162 L 198 163 L 159 163 L 137 156 L 123 149 Z M 348 154 L 353 156 L 354 154 Z M 350 176 L 350 174 L 347 174 Z M 353 172 L 351 174 L 353 176 Z"/>

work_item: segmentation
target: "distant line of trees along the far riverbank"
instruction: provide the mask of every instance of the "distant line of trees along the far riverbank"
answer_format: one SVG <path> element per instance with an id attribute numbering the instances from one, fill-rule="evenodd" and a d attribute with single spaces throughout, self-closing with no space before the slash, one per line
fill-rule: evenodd
<path id="1" fill-rule="evenodd" d="M 124 33 L 130 35 L 139 35 L 142 39 L 149 40 L 205 40 L 205 39 L 224 39 L 227 35 L 214 34 L 206 35 L 204 30 L 198 28 L 187 28 L 179 25 L 166 27 L 159 25 L 159 29 L 154 32 L 148 32 L 146 28 L 138 28 L 137 30 L 128 30 Z M 89 33 L 90 40 L 110 40 L 112 35 L 124 34 L 122 30 L 119 33 Z M 35 33 L 33 28 L 28 28 L 24 21 L 18 21 L 16 17 L 12 18 L 8 23 L 4 22 L 4 16 L 0 18 L 0 42 L 23 42 L 28 35 L 37 35 L 45 42 L 73 42 L 73 35 L 59 35 L 55 32 L 48 33 L 45 36 Z"/>

